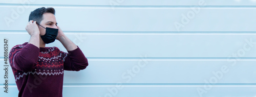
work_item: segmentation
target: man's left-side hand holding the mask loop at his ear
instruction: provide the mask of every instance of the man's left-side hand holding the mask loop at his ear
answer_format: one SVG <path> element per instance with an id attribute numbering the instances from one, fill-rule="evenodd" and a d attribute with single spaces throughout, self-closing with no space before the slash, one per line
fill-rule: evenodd
<path id="1" fill-rule="evenodd" d="M 39 36 L 39 34 L 40 34 L 39 28 L 36 25 L 36 21 L 34 21 L 34 20 L 30 20 L 28 22 L 26 30 L 27 30 L 27 32 L 29 33 L 30 36 L 33 36 L 33 35 L 38 35 Z"/>

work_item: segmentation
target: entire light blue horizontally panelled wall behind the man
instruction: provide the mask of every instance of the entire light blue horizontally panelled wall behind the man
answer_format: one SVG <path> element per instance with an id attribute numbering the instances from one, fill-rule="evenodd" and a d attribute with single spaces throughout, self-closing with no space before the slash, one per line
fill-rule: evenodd
<path id="1" fill-rule="evenodd" d="M 0 83 L 4 38 L 10 48 L 29 41 L 39 7 L 55 8 L 89 60 L 65 71 L 64 97 L 256 96 L 254 0 L 1 0 Z M 67 52 L 59 41 L 47 46 Z M 1 96 L 17 96 L 11 69 L 9 93 L 0 86 Z"/>

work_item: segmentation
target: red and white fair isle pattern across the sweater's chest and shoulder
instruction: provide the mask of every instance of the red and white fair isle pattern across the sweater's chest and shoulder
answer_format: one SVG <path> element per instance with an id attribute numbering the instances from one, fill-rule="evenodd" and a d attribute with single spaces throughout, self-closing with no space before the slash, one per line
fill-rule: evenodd
<path id="1" fill-rule="evenodd" d="M 32 75 L 44 75 L 44 76 L 63 76 L 64 66 L 63 62 L 67 58 L 68 53 L 60 51 L 57 47 L 46 47 L 45 52 L 39 52 L 38 61 L 35 68 L 32 71 L 20 71 L 15 68 L 15 56 L 26 45 L 19 44 L 12 48 L 10 52 L 10 61 L 12 64 L 12 70 L 15 77 L 15 81 L 22 80 L 26 76 Z"/>

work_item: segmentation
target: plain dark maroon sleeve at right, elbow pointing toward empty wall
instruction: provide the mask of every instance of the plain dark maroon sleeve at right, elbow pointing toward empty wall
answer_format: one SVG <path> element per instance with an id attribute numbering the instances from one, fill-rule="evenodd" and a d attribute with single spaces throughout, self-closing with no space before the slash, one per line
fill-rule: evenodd
<path id="1" fill-rule="evenodd" d="M 60 51 L 62 55 L 64 55 L 64 69 L 65 70 L 72 70 L 72 71 L 79 71 L 85 69 L 88 66 L 88 60 L 83 55 L 80 48 L 77 48 L 73 51 L 68 51 L 68 54 Z M 65 56 L 66 55 L 66 56 Z"/>

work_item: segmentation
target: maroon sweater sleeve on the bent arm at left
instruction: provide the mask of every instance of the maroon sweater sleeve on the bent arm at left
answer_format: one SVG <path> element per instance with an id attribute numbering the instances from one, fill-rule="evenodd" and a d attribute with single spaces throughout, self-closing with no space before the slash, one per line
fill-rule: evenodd
<path id="1" fill-rule="evenodd" d="M 33 44 L 16 45 L 9 55 L 11 67 L 20 71 L 31 71 L 37 64 L 39 48 Z"/>

